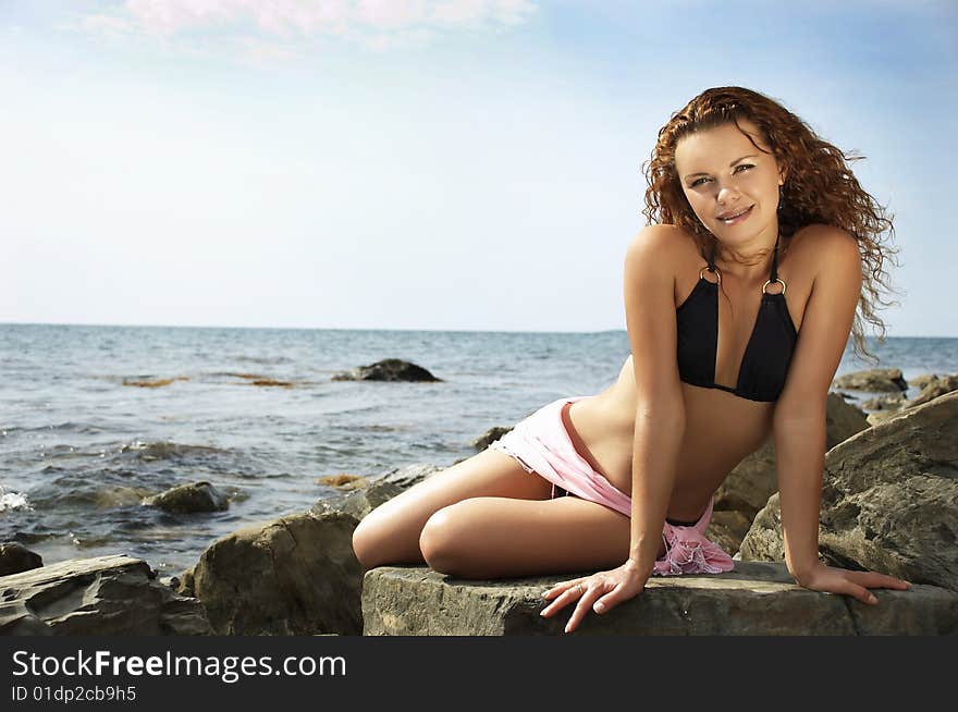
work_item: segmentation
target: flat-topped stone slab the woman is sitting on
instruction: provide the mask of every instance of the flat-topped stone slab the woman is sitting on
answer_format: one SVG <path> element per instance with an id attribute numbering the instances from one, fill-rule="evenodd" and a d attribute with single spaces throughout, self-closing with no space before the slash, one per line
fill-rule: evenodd
<path id="1" fill-rule="evenodd" d="M 594 572 L 584 572 L 591 574 Z M 363 581 L 364 635 L 563 635 L 567 606 L 539 615 L 562 576 L 456 579 L 425 566 L 373 568 Z M 609 613 L 589 612 L 573 635 L 954 635 L 958 594 L 933 586 L 879 590 L 876 605 L 809 591 L 784 564 L 736 562 L 727 574 L 653 576 Z"/>

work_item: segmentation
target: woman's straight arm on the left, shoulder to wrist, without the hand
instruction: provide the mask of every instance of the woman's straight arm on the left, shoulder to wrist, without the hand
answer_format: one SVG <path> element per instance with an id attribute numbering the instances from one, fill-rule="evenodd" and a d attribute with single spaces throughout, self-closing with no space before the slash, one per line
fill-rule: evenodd
<path id="1" fill-rule="evenodd" d="M 674 297 L 678 230 L 647 226 L 625 258 L 626 326 L 636 379 L 629 561 L 646 578 L 662 542 L 685 433 Z"/>

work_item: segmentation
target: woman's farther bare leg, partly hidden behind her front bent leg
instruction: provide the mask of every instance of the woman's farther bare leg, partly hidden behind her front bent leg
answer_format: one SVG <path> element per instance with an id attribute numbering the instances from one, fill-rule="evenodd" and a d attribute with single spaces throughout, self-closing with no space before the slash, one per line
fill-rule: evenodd
<path id="1" fill-rule="evenodd" d="M 413 486 L 367 514 L 353 532 L 364 568 L 425 562 L 419 536 L 437 511 L 469 498 L 548 500 L 552 484 L 514 458 L 487 449 Z"/>

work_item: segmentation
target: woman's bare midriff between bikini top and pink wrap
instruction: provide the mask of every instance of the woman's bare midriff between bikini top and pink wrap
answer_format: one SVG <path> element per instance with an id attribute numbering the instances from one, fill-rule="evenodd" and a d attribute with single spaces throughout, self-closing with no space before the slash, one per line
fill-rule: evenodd
<path id="1" fill-rule="evenodd" d="M 686 428 L 666 516 L 697 521 L 729 471 L 771 431 L 774 403 L 741 398 L 718 389 L 681 384 Z M 631 495 L 636 381 L 629 356 L 616 381 L 569 406 L 584 457 L 613 487 Z"/>

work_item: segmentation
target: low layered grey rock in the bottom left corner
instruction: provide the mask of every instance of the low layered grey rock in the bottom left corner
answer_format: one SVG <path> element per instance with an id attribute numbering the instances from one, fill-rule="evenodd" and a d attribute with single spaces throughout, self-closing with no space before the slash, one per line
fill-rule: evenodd
<path id="1" fill-rule="evenodd" d="M 199 601 L 156 576 L 138 558 L 112 555 L 0 577 L 0 635 L 209 635 Z"/>

